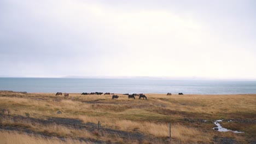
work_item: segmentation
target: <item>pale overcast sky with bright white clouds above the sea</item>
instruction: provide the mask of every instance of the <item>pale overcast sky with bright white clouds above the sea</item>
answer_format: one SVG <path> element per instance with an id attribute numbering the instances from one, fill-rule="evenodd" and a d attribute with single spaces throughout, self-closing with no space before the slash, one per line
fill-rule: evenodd
<path id="1" fill-rule="evenodd" d="M 1 0 L 0 77 L 256 79 L 254 0 Z"/>

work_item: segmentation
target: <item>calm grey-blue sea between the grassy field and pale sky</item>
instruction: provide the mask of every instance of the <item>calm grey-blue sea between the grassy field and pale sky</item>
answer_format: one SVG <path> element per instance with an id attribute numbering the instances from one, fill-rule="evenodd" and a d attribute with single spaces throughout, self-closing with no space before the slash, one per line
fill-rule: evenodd
<path id="1" fill-rule="evenodd" d="M 0 78 L 0 91 L 28 93 L 256 94 L 256 81 L 171 79 Z"/>

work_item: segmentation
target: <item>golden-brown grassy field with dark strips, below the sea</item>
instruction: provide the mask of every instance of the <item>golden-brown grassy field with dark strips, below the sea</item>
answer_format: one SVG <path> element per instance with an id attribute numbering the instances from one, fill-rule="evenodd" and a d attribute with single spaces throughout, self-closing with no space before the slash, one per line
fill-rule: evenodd
<path id="1" fill-rule="evenodd" d="M 170 143 L 170 122 L 172 143 L 256 142 L 256 94 L 118 95 L 2 91 L 0 143 Z M 215 131 L 217 119 L 245 133 Z"/>

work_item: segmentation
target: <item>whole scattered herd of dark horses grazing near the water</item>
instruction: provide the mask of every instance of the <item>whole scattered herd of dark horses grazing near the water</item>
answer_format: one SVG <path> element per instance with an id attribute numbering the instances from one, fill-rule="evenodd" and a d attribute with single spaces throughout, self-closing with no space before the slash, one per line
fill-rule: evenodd
<path id="1" fill-rule="evenodd" d="M 92 92 L 92 93 L 82 93 L 81 95 L 94 95 L 94 94 L 96 94 L 96 95 L 101 95 L 101 94 L 103 94 L 103 93 L 100 93 L 100 92 Z M 114 94 L 114 93 L 104 93 L 104 95 L 110 95 L 110 94 Z M 183 95 L 183 93 L 178 93 L 179 95 Z M 62 95 L 62 93 L 61 92 L 57 92 L 56 94 L 55 94 L 56 96 L 57 95 Z M 135 99 L 135 96 L 138 96 L 139 97 L 139 99 L 147 99 L 147 97 L 146 97 L 146 95 L 144 95 L 143 93 L 140 93 L 140 94 L 136 94 L 136 93 L 133 93 L 133 94 L 129 94 L 129 93 L 125 93 L 125 94 L 123 94 L 123 95 L 128 95 L 128 99 Z M 167 93 L 166 95 L 172 95 L 172 93 Z M 69 96 L 69 93 L 64 93 L 64 96 L 65 97 L 68 97 Z M 112 95 L 112 99 L 118 99 L 119 98 L 119 96 L 118 95 Z"/>

